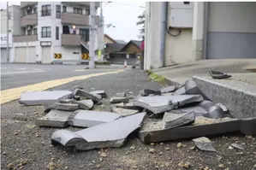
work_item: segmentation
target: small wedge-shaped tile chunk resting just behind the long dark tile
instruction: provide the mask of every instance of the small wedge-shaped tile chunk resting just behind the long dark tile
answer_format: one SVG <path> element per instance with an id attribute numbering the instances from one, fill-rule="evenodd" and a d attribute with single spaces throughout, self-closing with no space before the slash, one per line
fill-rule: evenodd
<path id="1" fill-rule="evenodd" d="M 185 114 L 172 114 L 171 112 L 166 112 L 164 114 L 164 128 L 170 129 L 178 126 L 186 126 L 193 123 L 194 121 L 193 112 L 188 112 Z"/>

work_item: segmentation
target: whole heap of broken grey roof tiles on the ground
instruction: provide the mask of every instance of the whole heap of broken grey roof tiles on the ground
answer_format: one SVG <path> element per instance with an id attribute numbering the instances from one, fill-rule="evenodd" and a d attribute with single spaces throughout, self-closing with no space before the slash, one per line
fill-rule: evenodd
<path id="1" fill-rule="evenodd" d="M 136 134 L 145 144 L 202 137 L 220 133 L 223 123 L 236 120 L 222 103 L 205 99 L 193 80 L 158 91 L 145 89 L 136 97 L 131 91 L 116 93 L 110 98 L 111 112 L 95 110 L 94 106 L 106 98 L 104 91 L 88 92 L 75 87 L 73 91 L 26 92 L 20 103 L 44 105 L 45 116 L 36 120 L 36 125 L 62 128 L 53 132 L 51 144 L 80 150 L 121 147 L 128 135 L 138 129 Z M 67 126 L 83 129 L 63 129 Z"/>

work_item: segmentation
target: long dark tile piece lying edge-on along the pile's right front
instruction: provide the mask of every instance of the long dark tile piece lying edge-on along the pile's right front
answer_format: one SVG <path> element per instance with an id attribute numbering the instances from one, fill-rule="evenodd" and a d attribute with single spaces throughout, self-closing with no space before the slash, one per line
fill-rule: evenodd
<path id="1" fill-rule="evenodd" d="M 196 119 L 197 118 L 198 117 L 196 117 Z M 222 120 L 223 121 L 212 124 L 180 126 L 172 129 L 164 129 L 163 120 L 146 119 L 143 121 L 143 126 L 140 128 L 139 138 L 143 143 L 150 144 L 155 142 L 164 142 L 184 138 L 197 138 L 207 135 L 212 136 L 224 134 L 227 132 L 241 131 L 241 120 L 226 120 L 225 118 L 223 118 Z"/>

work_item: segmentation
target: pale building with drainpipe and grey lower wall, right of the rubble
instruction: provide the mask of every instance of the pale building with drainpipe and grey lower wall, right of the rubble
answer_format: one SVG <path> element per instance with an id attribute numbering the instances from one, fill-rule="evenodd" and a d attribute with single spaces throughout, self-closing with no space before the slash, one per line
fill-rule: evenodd
<path id="1" fill-rule="evenodd" d="M 146 3 L 144 67 L 256 58 L 255 15 L 253 2 Z"/>

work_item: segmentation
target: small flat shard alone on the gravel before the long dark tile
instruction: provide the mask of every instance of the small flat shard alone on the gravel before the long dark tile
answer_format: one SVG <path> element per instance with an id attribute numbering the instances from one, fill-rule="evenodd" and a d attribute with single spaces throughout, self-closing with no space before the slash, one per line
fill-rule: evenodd
<path id="1" fill-rule="evenodd" d="M 212 151 L 212 152 L 217 151 L 215 148 L 213 148 L 211 144 L 211 140 L 209 138 L 206 138 L 206 137 L 193 138 L 193 143 L 200 150 Z"/>

